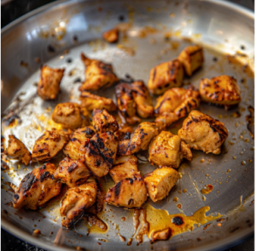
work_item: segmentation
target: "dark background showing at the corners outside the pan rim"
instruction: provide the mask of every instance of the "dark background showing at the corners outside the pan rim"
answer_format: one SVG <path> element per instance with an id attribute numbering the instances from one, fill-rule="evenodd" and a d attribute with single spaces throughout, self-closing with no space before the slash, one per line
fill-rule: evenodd
<path id="1" fill-rule="evenodd" d="M 19 18 L 33 9 L 37 9 L 47 3 L 55 0 L 1 0 L 1 28 L 7 26 L 11 21 Z M 240 4 L 247 9 L 253 9 L 254 0 L 230 0 L 230 2 Z M 1 250 L 2 251 L 47 251 L 42 248 L 34 247 L 20 239 L 13 237 L 7 231 L 1 229 Z M 254 238 L 243 242 L 236 247 L 229 248 L 226 251 L 251 251 L 254 250 Z"/>

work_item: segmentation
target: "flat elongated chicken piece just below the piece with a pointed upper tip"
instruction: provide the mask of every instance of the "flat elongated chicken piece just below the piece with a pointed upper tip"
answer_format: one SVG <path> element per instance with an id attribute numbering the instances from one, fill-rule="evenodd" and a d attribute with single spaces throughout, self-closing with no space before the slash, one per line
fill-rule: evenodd
<path id="1" fill-rule="evenodd" d="M 113 103 L 113 100 L 107 99 L 89 92 L 82 91 L 80 95 L 81 107 L 86 108 L 88 111 L 94 109 L 106 109 L 107 111 L 116 111 L 117 107 Z"/>

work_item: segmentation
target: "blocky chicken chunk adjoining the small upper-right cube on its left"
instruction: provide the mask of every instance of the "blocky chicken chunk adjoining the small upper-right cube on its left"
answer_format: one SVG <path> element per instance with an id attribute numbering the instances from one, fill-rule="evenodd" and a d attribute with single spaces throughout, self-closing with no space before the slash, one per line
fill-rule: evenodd
<path id="1" fill-rule="evenodd" d="M 149 73 L 148 88 L 153 94 L 163 94 L 167 89 L 183 84 L 183 65 L 174 59 L 154 66 Z"/>

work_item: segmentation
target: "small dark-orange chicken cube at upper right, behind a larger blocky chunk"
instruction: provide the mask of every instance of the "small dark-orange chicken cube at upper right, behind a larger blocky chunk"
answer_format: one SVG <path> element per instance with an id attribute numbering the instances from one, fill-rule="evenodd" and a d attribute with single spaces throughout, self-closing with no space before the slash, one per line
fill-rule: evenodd
<path id="1" fill-rule="evenodd" d="M 183 63 L 186 74 L 191 76 L 204 62 L 203 48 L 199 45 L 188 46 L 179 54 L 178 60 Z"/>

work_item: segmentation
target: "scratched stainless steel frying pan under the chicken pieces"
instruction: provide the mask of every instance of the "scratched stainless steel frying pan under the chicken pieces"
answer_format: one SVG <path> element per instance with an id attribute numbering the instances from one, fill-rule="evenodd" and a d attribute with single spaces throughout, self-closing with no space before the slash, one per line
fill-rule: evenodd
<path id="1" fill-rule="evenodd" d="M 117 44 L 103 42 L 102 31 L 119 23 L 129 26 L 126 36 Z M 177 57 L 191 43 L 200 43 L 205 48 L 204 66 L 185 82 L 199 87 L 201 77 L 227 74 L 236 77 L 242 100 L 230 111 L 201 104 L 200 111 L 218 118 L 229 130 L 223 151 L 218 156 L 193 151 L 193 161 L 184 162 L 179 168 L 182 179 L 164 201 L 153 205 L 166 209 L 169 214 L 177 214 L 177 203 L 173 202 L 177 197 L 184 214 L 192 215 L 197 209 L 209 206 L 209 213 L 224 215 L 222 224 L 215 220 L 207 229 L 201 225 L 153 245 L 144 237 L 139 246 L 134 241 L 128 247 L 127 240 L 133 233 L 132 214 L 107 205 L 101 215 L 108 223 L 106 234 L 92 232 L 86 237 L 84 220 L 72 231 L 61 230 L 60 199 L 38 211 L 16 211 L 9 206 L 13 193 L 9 191 L 8 182 L 19 185 L 24 175 L 32 170 L 32 166 L 26 168 L 13 162 L 9 170 L 2 171 L 3 229 L 47 250 L 74 250 L 78 246 L 86 250 L 221 250 L 251 237 L 254 143 L 246 117 L 249 115 L 247 107 L 254 102 L 253 74 L 249 71 L 254 53 L 253 25 L 252 12 L 221 1 L 60 1 L 26 14 L 5 27 L 2 31 L 1 112 L 8 114 L 7 109 L 13 106 L 21 121 L 12 127 L 2 123 L 2 133 L 5 138 L 15 134 L 30 151 L 44 128 L 51 126 L 48 118 L 55 105 L 67 100 L 78 102 L 78 79 L 84 80 L 84 67 L 79 60 L 82 51 L 91 58 L 111 62 L 119 77 L 128 73 L 147 83 L 153 66 Z M 227 54 L 237 57 L 229 58 Z M 35 83 L 43 64 L 66 68 L 58 100 L 43 101 L 37 96 Z M 113 98 L 113 88 L 100 94 Z M 172 132 L 177 132 L 180 126 L 178 122 L 171 128 Z M 143 174 L 154 169 L 149 163 L 140 163 L 138 168 Z M 113 184 L 110 177 L 106 181 Z M 207 184 L 214 189 L 204 201 L 200 191 Z M 126 220 L 122 221 L 122 217 Z M 32 236 L 34 229 L 41 231 L 38 237 Z M 119 240 L 118 232 L 126 242 Z M 99 241 L 102 238 L 108 242 Z"/>

